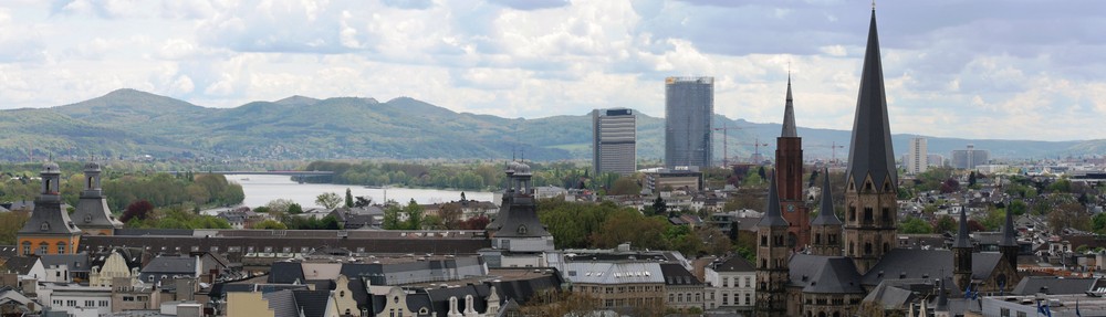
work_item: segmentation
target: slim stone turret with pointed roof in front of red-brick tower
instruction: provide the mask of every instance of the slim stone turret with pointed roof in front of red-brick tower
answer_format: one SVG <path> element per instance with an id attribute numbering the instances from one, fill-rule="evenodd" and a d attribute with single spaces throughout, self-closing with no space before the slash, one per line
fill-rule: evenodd
<path id="1" fill-rule="evenodd" d="M 791 246 L 786 235 L 789 224 L 780 213 L 776 175 L 768 190 L 768 210 L 757 223 L 757 316 L 785 316 L 787 314 L 787 262 Z"/>

